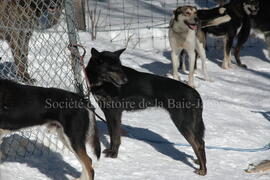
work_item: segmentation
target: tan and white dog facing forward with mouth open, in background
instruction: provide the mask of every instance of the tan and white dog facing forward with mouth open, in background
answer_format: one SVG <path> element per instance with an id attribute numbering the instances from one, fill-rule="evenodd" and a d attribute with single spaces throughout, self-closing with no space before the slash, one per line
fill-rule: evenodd
<path id="1" fill-rule="evenodd" d="M 185 50 L 189 56 L 189 80 L 188 84 L 194 84 L 194 65 L 196 53 L 202 60 L 202 69 L 205 80 L 210 80 L 206 70 L 206 54 L 204 49 L 204 38 L 200 36 L 200 27 L 214 26 L 230 20 L 230 16 L 224 15 L 225 8 L 217 11 L 217 17 L 200 22 L 195 6 L 180 6 L 173 11 L 173 17 L 169 26 L 169 41 L 171 45 L 172 75 L 176 80 L 180 80 L 178 75 L 179 55 Z"/>

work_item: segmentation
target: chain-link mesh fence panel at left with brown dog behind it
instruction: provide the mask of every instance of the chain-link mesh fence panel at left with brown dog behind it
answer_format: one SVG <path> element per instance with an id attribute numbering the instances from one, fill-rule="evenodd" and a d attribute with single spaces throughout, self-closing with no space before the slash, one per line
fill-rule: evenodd
<path id="1" fill-rule="evenodd" d="M 1 78 L 77 91 L 80 69 L 67 48 L 78 39 L 73 11 L 73 0 L 1 0 Z M 0 147 L 2 159 L 64 150 L 44 127 L 7 135 Z"/>

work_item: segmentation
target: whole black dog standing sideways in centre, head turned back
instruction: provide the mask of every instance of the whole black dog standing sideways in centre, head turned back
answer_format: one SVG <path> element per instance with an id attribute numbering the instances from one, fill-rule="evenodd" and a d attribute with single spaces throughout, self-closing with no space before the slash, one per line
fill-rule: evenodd
<path id="1" fill-rule="evenodd" d="M 123 111 L 160 106 L 168 111 L 177 129 L 191 144 L 200 165 L 196 173 L 206 175 L 204 123 L 199 93 L 179 81 L 122 66 L 119 57 L 123 51 L 98 52 L 93 48 L 86 68 L 92 93 L 107 120 L 111 145 L 104 151 L 106 156 L 115 158 L 118 155 Z"/>

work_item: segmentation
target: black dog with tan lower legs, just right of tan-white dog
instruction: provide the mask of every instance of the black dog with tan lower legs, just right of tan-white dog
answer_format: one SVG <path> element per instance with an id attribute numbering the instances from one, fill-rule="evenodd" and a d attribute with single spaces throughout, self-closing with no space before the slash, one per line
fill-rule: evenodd
<path id="1" fill-rule="evenodd" d="M 223 7 L 226 9 L 226 14 L 231 17 L 231 20 L 218 26 L 202 28 L 202 31 L 206 34 L 224 36 L 224 60 L 222 64 L 224 69 L 228 69 L 231 66 L 231 49 L 233 40 L 237 36 L 234 56 L 238 66 L 246 68 L 246 65 L 242 64 L 240 60 L 240 49 L 249 37 L 251 29 L 250 17 L 258 12 L 259 2 L 258 0 L 231 0 L 230 3 L 225 4 Z M 218 10 L 220 7 L 216 9 Z M 199 10 L 199 19 L 204 19 L 207 11 Z"/>

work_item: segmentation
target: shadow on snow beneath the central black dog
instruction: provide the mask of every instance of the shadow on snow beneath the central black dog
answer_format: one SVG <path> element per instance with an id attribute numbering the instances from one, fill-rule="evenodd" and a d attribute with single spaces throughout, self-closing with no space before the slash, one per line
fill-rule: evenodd
<path id="1" fill-rule="evenodd" d="M 106 124 L 101 121 L 97 121 L 97 126 L 99 129 L 99 137 L 100 137 L 101 142 L 103 143 L 105 147 L 109 147 L 109 142 L 107 138 L 105 137 L 105 135 L 108 134 Z M 195 166 L 193 165 L 193 163 L 189 162 L 189 159 L 194 161 L 195 160 L 194 157 L 184 152 L 179 151 L 178 149 L 174 147 L 173 144 L 171 144 L 167 139 L 165 139 L 161 135 L 146 128 L 131 127 L 124 124 L 121 125 L 121 128 L 124 130 L 128 129 L 129 134 L 131 134 L 125 137 L 146 142 L 149 145 L 151 145 L 155 150 L 160 152 L 161 154 L 169 156 L 174 160 L 181 161 L 184 164 L 195 169 Z M 179 134 L 179 136 L 181 135 Z M 149 140 L 154 139 L 154 141 L 145 141 L 144 138 L 142 139 L 140 137 L 144 137 L 145 139 L 149 139 Z M 156 142 L 162 142 L 162 143 L 156 143 Z"/>

